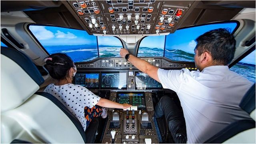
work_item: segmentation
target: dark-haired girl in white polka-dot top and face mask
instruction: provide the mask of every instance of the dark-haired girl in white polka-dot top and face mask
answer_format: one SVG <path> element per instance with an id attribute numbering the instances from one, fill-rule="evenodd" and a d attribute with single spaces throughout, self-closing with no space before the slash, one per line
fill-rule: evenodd
<path id="1" fill-rule="evenodd" d="M 50 76 L 56 79 L 56 83 L 48 85 L 44 92 L 52 94 L 64 104 L 81 122 L 84 130 L 89 126 L 93 117 L 107 117 L 107 108 L 129 108 L 130 104 L 119 104 L 96 96 L 87 88 L 72 84 L 72 77 L 76 74 L 76 66 L 66 54 L 51 54 L 45 59 L 44 67 Z M 98 105 L 98 106 L 97 106 Z"/>

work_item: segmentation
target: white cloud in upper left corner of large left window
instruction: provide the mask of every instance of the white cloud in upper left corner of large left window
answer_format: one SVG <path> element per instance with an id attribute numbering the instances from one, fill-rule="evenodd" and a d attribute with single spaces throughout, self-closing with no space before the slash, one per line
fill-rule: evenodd
<path id="1" fill-rule="evenodd" d="M 48 40 L 54 38 L 54 34 L 50 30 L 46 30 L 45 26 L 30 26 L 29 28 L 38 40 Z"/>

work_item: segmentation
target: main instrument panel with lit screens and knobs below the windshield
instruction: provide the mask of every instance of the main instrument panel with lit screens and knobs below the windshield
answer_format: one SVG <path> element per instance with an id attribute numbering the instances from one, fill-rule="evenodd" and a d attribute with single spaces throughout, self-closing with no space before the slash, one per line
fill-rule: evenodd
<path id="1" fill-rule="evenodd" d="M 166 70 L 188 68 L 196 70 L 194 62 L 173 62 L 164 57 L 142 58 Z M 76 63 L 78 72 L 74 84 L 90 90 L 161 90 L 162 85 L 140 72 L 123 58 L 97 58 L 90 62 Z"/>

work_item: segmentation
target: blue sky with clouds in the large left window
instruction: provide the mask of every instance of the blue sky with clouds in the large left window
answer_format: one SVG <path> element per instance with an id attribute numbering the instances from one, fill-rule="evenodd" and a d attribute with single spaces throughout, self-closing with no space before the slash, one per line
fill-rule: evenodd
<path id="1" fill-rule="evenodd" d="M 97 45 L 96 36 L 89 35 L 86 31 L 55 26 L 29 26 L 43 46 L 58 45 Z"/>

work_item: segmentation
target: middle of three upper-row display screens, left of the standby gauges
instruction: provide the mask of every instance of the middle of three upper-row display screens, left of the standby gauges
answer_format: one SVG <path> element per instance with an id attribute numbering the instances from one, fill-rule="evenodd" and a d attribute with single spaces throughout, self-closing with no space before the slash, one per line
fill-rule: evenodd
<path id="1" fill-rule="evenodd" d="M 102 72 L 102 89 L 126 89 L 126 72 Z"/>

